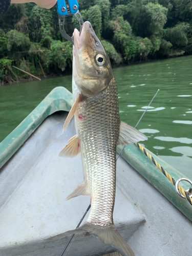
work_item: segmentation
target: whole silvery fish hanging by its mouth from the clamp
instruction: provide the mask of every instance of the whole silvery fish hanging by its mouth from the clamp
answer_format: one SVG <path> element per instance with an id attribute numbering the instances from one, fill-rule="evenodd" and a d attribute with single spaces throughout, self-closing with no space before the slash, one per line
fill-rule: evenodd
<path id="1" fill-rule="evenodd" d="M 80 227 L 62 233 L 89 232 L 115 247 L 123 256 L 134 256 L 113 222 L 116 189 L 116 146 L 147 140 L 134 127 L 120 121 L 117 83 L 108 54 L 89 22 L 73 32 L 73 100 L 63 125 L 75 117 L 76 135 L 59 156 L 81 154 L 84 181 L 66 200 L 91 195 L 91 211 Z M 60 235 L 59 235 L 60 236 Z"/>

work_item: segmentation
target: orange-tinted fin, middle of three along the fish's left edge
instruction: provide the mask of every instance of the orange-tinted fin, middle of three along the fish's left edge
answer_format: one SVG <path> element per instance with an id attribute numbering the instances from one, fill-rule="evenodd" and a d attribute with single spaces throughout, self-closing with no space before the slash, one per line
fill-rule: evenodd
<path id="1" fill-rule="evenodd" d="M 80 140 L 74 135 L 59 153 L 59 157 L 75 157 L 80 153 Z"/>

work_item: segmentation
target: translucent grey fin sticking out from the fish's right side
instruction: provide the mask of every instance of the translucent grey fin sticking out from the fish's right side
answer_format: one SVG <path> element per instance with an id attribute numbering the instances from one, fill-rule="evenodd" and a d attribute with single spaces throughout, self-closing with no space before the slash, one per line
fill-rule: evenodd
<path id="1" fill-rule="evenodd" d="M 137 129 L 132 127 L 131 125 L 121 121 L 120 124 L 120 133 L 119 139 L 117 141 L 117 145 L 130 145 L 132 143 L 136 143 L 138 141 L 147 140 L 148 138 Z"/>

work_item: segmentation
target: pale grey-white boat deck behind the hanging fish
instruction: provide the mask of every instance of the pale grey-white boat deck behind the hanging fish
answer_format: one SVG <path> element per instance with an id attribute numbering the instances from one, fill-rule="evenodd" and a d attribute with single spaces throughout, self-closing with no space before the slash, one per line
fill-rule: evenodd
<path id="1" fill-rule="evenodd" d="M 75 135 L 74 120 L 62 134 L 67 114 L 49 116 L 1 168 L 1 256 L 59 256 L 69 238 L 46 239 L 74 229 L 89 206 L 90 197 L 65 201 L 83 180 L 80 154 L 58 157 Z M 117 162 L 114 223 L 136 256 L 191 253 L 192 223 L 122 158 Z M 78 234 L 67 256 L 114 250 Z"/>

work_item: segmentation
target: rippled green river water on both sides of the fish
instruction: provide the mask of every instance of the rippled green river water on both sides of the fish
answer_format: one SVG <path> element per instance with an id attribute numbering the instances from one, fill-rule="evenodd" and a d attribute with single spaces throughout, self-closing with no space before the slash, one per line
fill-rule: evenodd
<path id="1" fill-rule="evenodd" d="M 192 179 L 192 56 L 114 69 L 120 118 L 135 126 L 160 89 L 137 129 L 141 143 Z M 0 88 L 2 141 L 55 87 L 72 91 L 72 77 L 13 84 Z"/>

